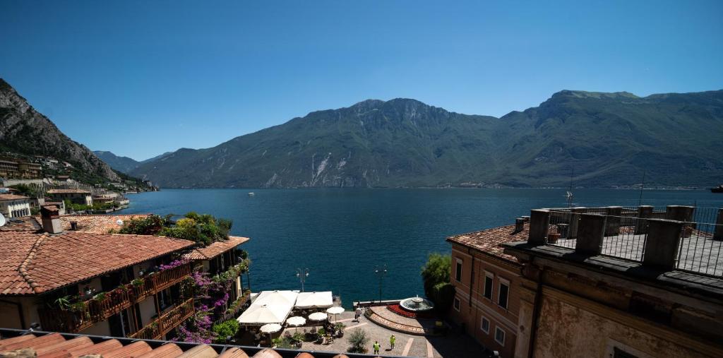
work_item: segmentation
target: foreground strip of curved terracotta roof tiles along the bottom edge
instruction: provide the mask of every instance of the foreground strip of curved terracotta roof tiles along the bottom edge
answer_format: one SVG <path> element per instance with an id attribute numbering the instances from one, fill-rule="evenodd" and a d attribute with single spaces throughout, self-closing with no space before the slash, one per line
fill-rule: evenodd
<path id="1" fill-rule="evenodd" d="M 43 333 L 36 332 L 35 334 Z M 315 358 L 314 354 L 317 354 L 316 357 L 330 357 L 333 354 L 328 352 L 285 351 L 282 356 L 279 352 L 270 348 L 257 350 L 256 347 L 236 346 L 227 346 L 226 350 L 219 354 L 219 351 L 223 350 L 223 346 L 214 348 L 208 344 L 196 344 L 188 349 L 188 346 L 185 345 L 187 351 L 183 351 L 180 347 L 181 344 L 171 342 L 158 346 L 158 341 L 148 344 L 150 341 L 147 343 L 139 340 L 127 343 L 124 346 L 115 338 L 103 338 L 102 341 L 98 341 L 98 339 L 99 337 L 95 337 L 91 340 L 90 337 L 80 335 L 73 335 L 66 339 L 59 333 L 50 333 L 44 336 L 26 334 L 25 336 L 0 339 L 0 354 L 24 353 L 26 356 L 38 358 L 71 358 L 80 357 L 82 354 L 98 354 L 103 358 Z M 125 342 L 128 342 L 128 340 Z M 249 356 L 243 349 L 253 349 L 256 354 Z M 348 356 L 346 354 L 336 354 L 333 358 L 348 358 Z"/>

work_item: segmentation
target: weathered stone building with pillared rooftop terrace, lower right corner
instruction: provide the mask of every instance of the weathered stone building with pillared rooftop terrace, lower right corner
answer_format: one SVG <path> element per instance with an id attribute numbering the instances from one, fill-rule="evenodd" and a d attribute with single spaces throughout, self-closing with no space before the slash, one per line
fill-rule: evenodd
<path id="1" fill-rule="evenodd" d="M 522 266 L 515 357 L 723 357 L 722 226 L 716 208 L 532 210 L 502 244 Z"/>

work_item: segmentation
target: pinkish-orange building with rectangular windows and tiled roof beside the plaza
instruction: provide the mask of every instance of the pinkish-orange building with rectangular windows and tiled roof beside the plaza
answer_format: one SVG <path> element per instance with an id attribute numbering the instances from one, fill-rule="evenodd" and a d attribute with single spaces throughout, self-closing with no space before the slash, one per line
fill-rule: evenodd
<path id="1" fill-rule="evenodd" d="M 502 357 L 515 352 L 522 266 L 502 252 L 500 244 L 526 237 L 527 228 L 519 221 L 447 239 L 452 245 L 450 282 L 455 286 L 449 317 Z"/>

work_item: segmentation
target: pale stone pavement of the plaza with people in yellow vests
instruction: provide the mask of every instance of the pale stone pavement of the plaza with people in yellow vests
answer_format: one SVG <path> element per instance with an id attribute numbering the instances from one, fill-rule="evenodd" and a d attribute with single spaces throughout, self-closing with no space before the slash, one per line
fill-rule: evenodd
<path id="1" fill-rule="evenodd" d="M 413 336 L 383 328 L 380 325 L 376 325 L 375 323 L 369 321 L 367 317 L 364 317 L 363 315 L 359 318 L 359 322 L 356 322 L 354 321 L 354 312 L 343 312 L 341 315 L 338 315 L 338 320 L 346 325 L 343 338 L 336 338 L 332 344 L 304 342 L 301 349 L 309 351 L 333 351 L 345 353 L 349 346 L 349 342 L 347 341 L 349 333 L 353 330 L 363 329 L 364 331 L 367 331 L 367 337 L 370 338 L 368 345 L 369 351 L 367 351 L 367 354 L 372 354 L 374 352 L 372 344 L 374 344 L 374 341 L 379 341 L 382 345 L 382 349 L 380 351 L 380 355 L 382 356 L 422 358 L 485 357 L 482 346 L 479 346 L 479 344 L 477 344 L 469 336 L 460 336 L 455 333 L 450 333 L 448 336 L 444 337 Z M 295 329 L 288 328 L 286 331 L 293 334 Z M 299 328 L 299 331 L 301 331 L 301 328 Z M 390 349 L 389 346 L 389 337 L 392 334 L 397 338 L 394 349 Z"/>

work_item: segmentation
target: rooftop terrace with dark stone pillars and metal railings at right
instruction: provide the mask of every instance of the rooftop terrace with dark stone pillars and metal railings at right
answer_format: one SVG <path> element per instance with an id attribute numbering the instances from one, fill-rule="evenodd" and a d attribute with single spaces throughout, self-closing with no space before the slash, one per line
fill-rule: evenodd
<path id="1" fill-rule="evenodd" d="M 527 241 L 503 246 L 723 294 L 719 208 L 532 210 Z"/>

